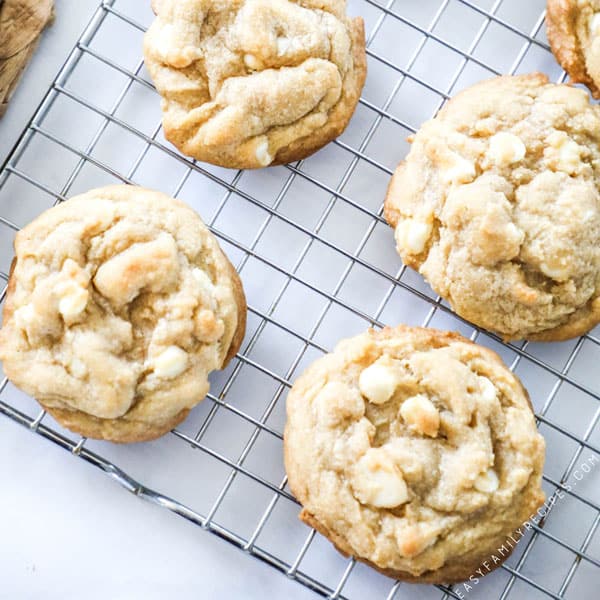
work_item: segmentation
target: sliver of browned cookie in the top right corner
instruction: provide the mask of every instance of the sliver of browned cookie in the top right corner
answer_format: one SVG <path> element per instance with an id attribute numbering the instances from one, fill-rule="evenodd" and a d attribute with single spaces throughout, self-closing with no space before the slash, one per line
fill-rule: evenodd
<path id="1" fill-rule="evenodd" d="M 571 81 L 584 83 L 600 98 L 600 1 L 548 0 L 546 30 Z"/>

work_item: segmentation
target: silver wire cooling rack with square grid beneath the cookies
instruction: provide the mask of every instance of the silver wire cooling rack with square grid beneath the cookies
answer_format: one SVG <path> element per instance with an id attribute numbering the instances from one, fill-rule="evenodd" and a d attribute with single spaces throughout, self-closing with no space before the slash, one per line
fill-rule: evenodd
<path id="1" fill-rule="evenodd" d="M 208 399 L 151 444 L 76 438 L 6 379 L 0 413 L 324 596 L 597 598 L 599 329 L 560 344 L 502 344 L 401 266 L 382 218 L 405 138 L 450 95 L 499 73 L 563 79 L 543 0 L 351 0 L 366 22 L 369 75 L 350 127 L 314 157 L 253 172 L 190 161 L 164 140 L 141 59 L 147 4 L 100 4 L 3 166 L 2 300 L 20 226 L 91 187 L 132 182 L 185 200 L 211 226 L 244 281 L 246 339 Z M 298 521 L 286 487 L 290 381 L 340 338 L 400 322 L 458 330 L 499 352 L 529 388 L 547 441 L 544 487 L 556 502 L 471 589 L 400 584 L 343 558 Z"/>

